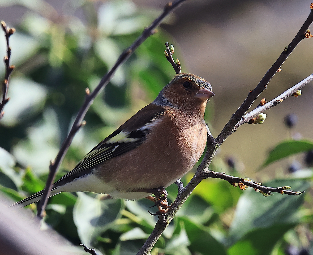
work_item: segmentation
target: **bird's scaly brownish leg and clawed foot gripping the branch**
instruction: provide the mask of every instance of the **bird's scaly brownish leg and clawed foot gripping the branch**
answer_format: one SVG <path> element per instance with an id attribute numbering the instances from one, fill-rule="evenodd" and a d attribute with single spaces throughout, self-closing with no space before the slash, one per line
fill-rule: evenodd
<path id="1" fill-rule="evenodd" d="M 151 215 L 161 215 L 167 213 L 168 209 L 172 207 L 172 205 L 168 205 L 167 202 L 167 191 L 164 186 L 158 187 L 156 189 L 138 189 L 136 192 L 146 192 L 152 193 L 155 196 L 147 196 L 146 198 L 155 202 L 155 205 L 151 207 L 157 207 L 159 209 L 156 213 L 150 213 Z"/>

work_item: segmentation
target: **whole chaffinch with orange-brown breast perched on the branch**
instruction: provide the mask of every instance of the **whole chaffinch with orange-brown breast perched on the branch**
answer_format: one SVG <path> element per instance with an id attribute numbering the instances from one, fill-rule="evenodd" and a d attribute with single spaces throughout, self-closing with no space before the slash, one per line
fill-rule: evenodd
<path id="1" fill-rule="evenodd" d="M 195 74 L 176 74 L 151 104 L 56 181 L 50 196 L 90 191 L 127 200 L 151 194 L 160 198 L 154 191 L 166 192 L 164 188 L 190 171 L 202 156 L 207 141 L 204 111 L 212 96 L 207 80 Z M 42 195 L 43 190 L 13 206 L 38 202 Z"/>

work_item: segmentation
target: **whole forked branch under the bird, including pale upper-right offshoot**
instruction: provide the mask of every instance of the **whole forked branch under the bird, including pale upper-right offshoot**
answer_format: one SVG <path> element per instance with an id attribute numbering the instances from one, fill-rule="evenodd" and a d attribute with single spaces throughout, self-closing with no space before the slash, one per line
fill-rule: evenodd
<path id="1" fill-rule="evenodd" d="M 173 217 L 177 213 L 177 211 L 182 207 L 183 203 L 187 200 L 191 192 L 195 189 L 195 187 L 203 180 L 208 177 L 213 178 L 220 178 L 230 182 L 232 185 L 238 185 L 240 189 L 244 190 L 247 186 L 254 188 L 256 191 L 260 191 L 264 196 L 272 195 L 271 192 L 279 192 L 281 194 L 288 194 L 288 195 L 300 195 L 304 191 L 288 191 L 289 186 L 278 187 L 278 188 L 271 188 L 262 186 L 260 183 L 253 182 L 248 178 L 242 179 L 234 176 L 228 176 L 225 173 L 218 173 L 208 170 L 208 166 L 210 165 L 216 151 L 221 146 L 223 141 L 231 135 L 233 132 L 236 131 L 236 127 L 239 127 L 241 124 L 248 122 L 249 120 L 253 119 L 259 113 L 264 110 L 267 110 L 275 105 L 278 104 L 276 100 L 281 102 L 283 99 L 287 98 L 288 96 L 294 94 L 299 88 L 302 88 L 306 84 L 308 84 L 312 80 L 312 75 L 308 78 L 304 79 L 299 84 L 295 85 L 294 87 L 286 90 L 283 94 L 272 100 L 271 102 L 264 104 L 263 106 L 253 110 L 249 114 L 245 115 L 245 112 L 249 110 L 250 106 L 254 102 L 255 99 L 262 93 L 264 89 L 267 88 L 267 84 L 272 79 L 272 77 L 276 74 L 279 70 L 281 65 L 285 62 L 291 52 L 295 49 L 295 47 L 300 43 L 301 40 L 304 38 L 312 37 L 310 34 L 310 30 L 308 30 L 309 26 L 313 21 L 313 3 L 310 6 L 310 15 L 300 28 L 299 32 L 295 36 L 295 38 L 291 41 L 291 43 L 285 47 L 284 51 L 280 54 L 279 58 L 276 62 L 272 65 L 272 67 L 266 72 L 264 77 L 261 79 L 259 84 L 255 87 L 253 91 L 250 91 L 248 97 L 244 100 L 243 104 L 239 107 L 239 109 L 231 116 L 228 123 L 225 125 L 221 133 L 218 135 L 216 139 L 213 138 L 211 133 L 208 130 L 208 142 L 207 147 L 208 150 L 204 155 L 204 158 L 197 169 L 196 174 L 192 177 L 191 181 L 187 184 L 187 186 L 182 189 L 182 191 L 178 192 L 177 198 L 173 206 L 169 209 L 169 211 L 165 214 L 165 217 L 159 217 L 158 222 L 156 223 L 155 228 L 153 229 L 151 235 L 146 240 L 145 244 L 141 247 L 140 251 L 137 255 L 149 255 L 151 249 L 155 245 L 156 241 L 164 232 L 167 225 L 172 221 Z M 175 68 L 174 68 L 175 69 Z M 175 69 L 176 70 L 176 69 Z M 276 102 L 276 103 L 275 103 Z M 261 122 L 262 123 L 262 122 Z"/>

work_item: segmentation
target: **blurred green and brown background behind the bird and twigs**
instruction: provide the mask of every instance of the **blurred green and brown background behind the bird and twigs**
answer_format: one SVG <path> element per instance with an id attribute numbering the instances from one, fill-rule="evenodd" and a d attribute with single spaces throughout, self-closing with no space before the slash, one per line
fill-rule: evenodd
<path id="1" fill-rule="evenodd" d="M 0 1 L 0 19 L 17 29 L 10 38 L 12 64 L 17 68 L 0 121 L 1 195 L 18 201 L 44 188 L 49 161 L 83 103 L 85 88 L 95 88 L 165 3 Z M 309 6 L 308 1 L 187 1 L 97 97 L 58 178 L 172 79 L 175 72 L 164 57 L 165 42 L 174 44 L 174 58 L 180 59 L 183 72 L 212 84 L 216 96 L 209 101 L 205 120 L 213 136 L 218 135 L 295 36 Z M 313 72 L 312 43 L 303 40 L 275 75 L 264 91 L 268 101 Z M 4 36 L 0 36 L 1 55 L 5 55 Z M 1 64 L 0 73 L 4 75 Z M 264 197 L 252 188 L 240 191 L 223 180 L 204 180 L 151 254 L 313 254 L 313 152 L 307 152 L 313 149 L 312 95 L 309 84 L 298 98 L 290 97 L 269 110 L 262 125 L 241 126 L 210 166 L 264 185 L 306 190 L 305 195 Z M 284 118 L 290 113 L 288 127 Z M 266 158 L 272 162 L 257 171 Z M 183 182 L 187 184 L 192 175 Z M 174 201 L 177 187 L 167 191 Z M 45 222 L 74 245 L 84 243 L 102 254 L 136 254 L 157 220 L 148 213 L 151 205 L 148 200 L 61 193 L 49 200 Z M 28 210 L 36 212 L 34 205 Z"/>

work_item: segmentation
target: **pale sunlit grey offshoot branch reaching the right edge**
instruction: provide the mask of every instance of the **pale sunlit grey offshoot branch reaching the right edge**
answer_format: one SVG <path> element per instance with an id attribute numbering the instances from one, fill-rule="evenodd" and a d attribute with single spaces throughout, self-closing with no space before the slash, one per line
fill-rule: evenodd
<path id="1" fill-rule="evenodd" d="M 241 120 L 237 123 L 235 128 L 239 127 L 240 125 L 249 122 L 249 120 L 255 118 L 260 113 L 269 110 L 270 108 L 278 105 L 280 102 L 285 100 L 287 97 L 290 97 L 291 95 L 295 95 L 296 91 L 303 88 L 305 85 L 307 85 L 310 81 L 313 80 L 313 74 L 305 78 L 304 80 L 300 81 L 298 84 L 293 86 L 290 89 L 287 89 L 284 93 L 280 94 L 278 97 L 273 99 L 272 101 L 266 103 L 263 106 L 259 106 L 255 108 L 253 111 L 249 112 L 248 114 L 244 115 Z"/>

